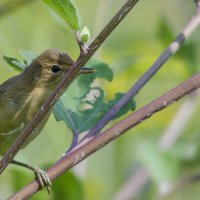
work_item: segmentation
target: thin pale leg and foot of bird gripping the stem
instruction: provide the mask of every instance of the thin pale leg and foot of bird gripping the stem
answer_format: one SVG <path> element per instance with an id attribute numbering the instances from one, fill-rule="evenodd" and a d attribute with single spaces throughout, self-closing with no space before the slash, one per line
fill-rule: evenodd
<path id="1" fill-rule="evenodd" d="M 25 167 L 27 169 L 32 170 L 35 173 L 35 178 L 38 180 L 40 187 L 41 188 L 46 187 L 48 193 L 50 193 L 51 181 L 45 171 L 43 171 L 42 169 L 38 167 L 33 167 L 31 165 L 28 165 L 26 163 L 22 163 L 16 160 L 12 160 L 11 164 L 18 165 L 18 166 Z"/>

